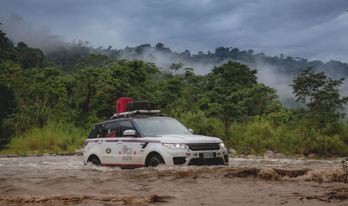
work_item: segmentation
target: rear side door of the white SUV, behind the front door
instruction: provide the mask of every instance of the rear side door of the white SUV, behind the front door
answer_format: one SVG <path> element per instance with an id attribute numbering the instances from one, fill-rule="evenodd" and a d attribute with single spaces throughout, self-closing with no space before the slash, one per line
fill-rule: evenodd
<path id="1" fill-rule="evenodd" d="M 118 151 L 122 149 L 122 141 L 118 138 L 119 127 L 118 121 L 107 122 L 102 128 L 102 139 L 100 148 L 102 152 L 103 165 L 120 164 L 120 154 Z"/>

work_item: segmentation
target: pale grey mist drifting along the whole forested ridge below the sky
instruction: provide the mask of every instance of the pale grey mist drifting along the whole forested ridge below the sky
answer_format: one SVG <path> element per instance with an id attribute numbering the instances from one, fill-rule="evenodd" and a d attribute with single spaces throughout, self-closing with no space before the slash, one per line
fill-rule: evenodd
<path id="1" fill-rule="evenodd" d="M 348 76 L 347 63 L 340 61 L 308 61 L 306 58 L 284 54 L 267 56 L 262 52 L 254 52 L 253 48 L 242 50 L 232 47 L 233 45 L 216 47 L 212 51 L 195 52 L 196 54 L 190 52 L 189 48 L 183 52 L 173 52 L 162 42 L 125 48 L 93 47 L 92 43 L 88 41 L 67 42 L 63 36 L 52 34 L 48 27 L 33 26 L 18 15 L 0 17 L 3 21 L 3 28 L 8 31 L 8 38 L 14 40 L 16 45 L 22 41 L 29 47 L 41 49 L 52 63 L 50 66 L 59 68 L 63 74 L 74 72 L 73 65 L 79 58 L 87 54 L 104 54 L 111 61 L 125 58 L 152 62 L 157 67 L 163 68 L 164 71 L 169 70 L 172 63 L 183 63 L 184 68 L 193 68 L 196 74 L 207 74 L 214 66 L 222 65 L 228 60 L 239 61 L 248 65 L 249 68 L 258 70 L 259 81 L 276 88 L 283 105 L 292 109 L 303 106 L 300 102 L 295 101 L 296 98 L 289 85 L 292 84 L 292 78 L 300 74 L 304 68 L 314 68 L 315 72 L 325 72 L 333 79 L 342 77 L 347 79 Z M 282 53 L 282 51 L 279 52 Z M 340 94 L 348 95 L 347 81 L 340 86 Z M 347 107 L 345 112 L 348 112 Z"/>

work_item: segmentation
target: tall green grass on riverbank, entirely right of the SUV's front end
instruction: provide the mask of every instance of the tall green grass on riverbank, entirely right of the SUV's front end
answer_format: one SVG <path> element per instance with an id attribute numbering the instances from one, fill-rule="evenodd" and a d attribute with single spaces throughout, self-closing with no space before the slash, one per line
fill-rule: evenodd
<path id="1" fill-rule="evenodd" d="M 324 134 L 323 129 L 307 127 L 306 122 L 293 125 L 272 125 L 264 118 L 247 123 L 233 123 L 229 128 L 230 144 L 241 151 L 249 145 L 257 154 L 276 150 L 285 154 L 348 155 L 347 126 L 341 125 L 337 134 Z"/>

